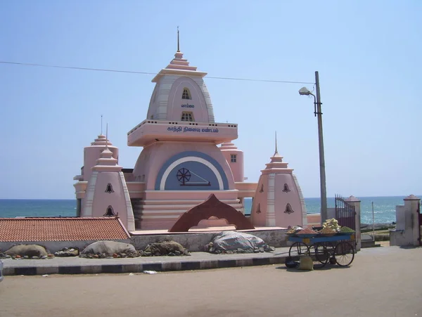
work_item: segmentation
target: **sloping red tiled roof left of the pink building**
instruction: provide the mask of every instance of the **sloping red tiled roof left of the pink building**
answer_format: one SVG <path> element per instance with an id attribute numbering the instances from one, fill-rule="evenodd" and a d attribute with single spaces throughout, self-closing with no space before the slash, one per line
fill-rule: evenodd
<path id="1" fill-rule="evenodd" d="M 123 240 L 118 218 L 0 218 L 0 242 Z"/>

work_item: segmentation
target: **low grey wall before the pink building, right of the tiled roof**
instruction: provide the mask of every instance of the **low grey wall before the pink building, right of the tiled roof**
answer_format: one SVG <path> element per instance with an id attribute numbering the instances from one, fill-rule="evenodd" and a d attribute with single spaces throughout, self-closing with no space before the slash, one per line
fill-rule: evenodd
<path id="1" fill-rule="evenodd" d="M 257 231 L 240 231 L 249 233 L 261 238 L 271 247 L 286 247 L 286 231 L 287 229 L 274 230 L 257 230 Z M 157 235 L 132 235 L 131 242 L 136 250 L 143 250 L 153 242 L 173 240 L 179 242 L 190 252 L 203 252 L 205 245 L 210 243 L 212 236 L 216 232 L 201 233 L 174 233 L 174 234 L 157 234 Z"/>

